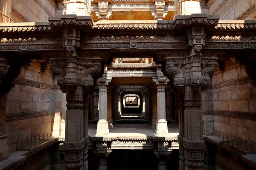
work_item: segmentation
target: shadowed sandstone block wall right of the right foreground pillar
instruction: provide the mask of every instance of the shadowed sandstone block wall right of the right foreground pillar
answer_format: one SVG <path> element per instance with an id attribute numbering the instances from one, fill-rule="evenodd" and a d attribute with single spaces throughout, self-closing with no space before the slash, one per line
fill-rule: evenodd
<path id="1" fill-rule="evenodd" d="M 244 66 L 225 60 L 224 69 L 212 75 L 212 90 L 202 96 L 206 130 L 256 142 L 256 87 Z"/>

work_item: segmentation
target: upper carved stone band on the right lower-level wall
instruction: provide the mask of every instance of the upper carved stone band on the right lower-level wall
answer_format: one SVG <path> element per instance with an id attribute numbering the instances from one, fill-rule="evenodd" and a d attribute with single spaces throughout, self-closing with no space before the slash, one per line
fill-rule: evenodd
<path id="1" fill-rule="evenodd" d="M 220 82 L 217 84 L 213 84 L 212 88 L 222 88 L 222 87 L 227 87 L 227 86 L 232 86 L 232 85 L 244 85 L 247 83 L 251 83 L 252 79 L 250 77 L 244 77 L 240 79 L 233 79 L 233 80 L 228 80 L 224 82 Z"/>

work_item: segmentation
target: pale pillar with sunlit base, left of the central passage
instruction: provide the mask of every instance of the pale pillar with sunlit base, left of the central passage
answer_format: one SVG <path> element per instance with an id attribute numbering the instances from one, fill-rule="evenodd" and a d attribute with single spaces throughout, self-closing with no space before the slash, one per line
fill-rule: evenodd
<path id="1" fill-rule="evenodd" d="M 97 124 L 96 136 L 108 135 L 108 94 L 105 78 L 99 79 L 99 121 Z"/>

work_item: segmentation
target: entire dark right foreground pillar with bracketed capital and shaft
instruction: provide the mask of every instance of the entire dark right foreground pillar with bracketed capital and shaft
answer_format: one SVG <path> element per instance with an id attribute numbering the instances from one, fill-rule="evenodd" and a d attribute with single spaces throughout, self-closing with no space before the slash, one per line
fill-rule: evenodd
<path id="1" fill-rule="evenodd" d="M 188 51 L 161 51 L 166 73 L 173 77 L 179 92 L 180 170 L 203 169 L 204 140 L 202 128 L 201 89 L 211 84 L 210 74 L 217 65 L 216 51 L 201 51 L 205 31 L 202 27 L 188 28 Z M 182 98 L 184 113 L 182 113 Z"/>

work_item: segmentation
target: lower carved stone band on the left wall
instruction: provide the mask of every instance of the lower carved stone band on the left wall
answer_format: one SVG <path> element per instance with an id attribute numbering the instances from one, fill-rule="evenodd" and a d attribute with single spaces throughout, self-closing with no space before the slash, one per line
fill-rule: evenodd
<path id="1" fill-rule="evenodd" d="M 6 114 L 6 122 L 12 122 L 12 121 L 17 121 L 22 119 L 31 119 L 35 117 L 41 117 L 41 116 L 61 115 L 61 114 L 62 114 L 62 111 L 54 111 L 54 110 L 11 113 L 11 114 Z"/>

